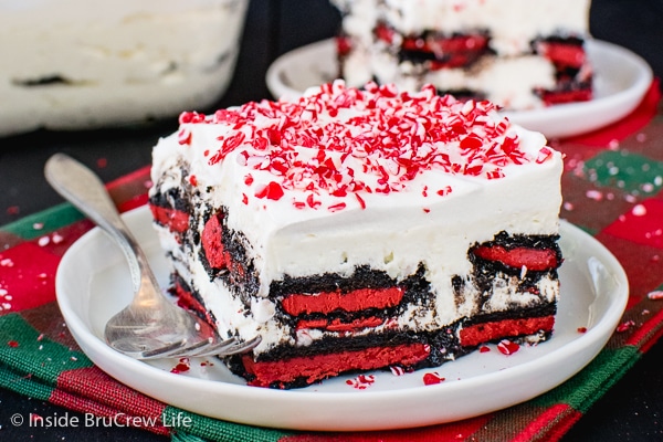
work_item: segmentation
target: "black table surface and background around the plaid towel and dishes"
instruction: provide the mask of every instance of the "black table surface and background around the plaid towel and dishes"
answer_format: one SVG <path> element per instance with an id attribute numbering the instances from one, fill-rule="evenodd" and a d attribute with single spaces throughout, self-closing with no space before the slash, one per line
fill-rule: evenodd
<path id="1" fill-rule="evenodd" d="M 333 36 L 339 15 L 327 0 L 252 0 L 236 72 L 214 107 L 271 97 L 264 76 L 278 55 Z M 594 0 L 591 32 L 629 48 L 663 76 L 663 1 Z M 7 105 L 0 103 L 0 106 Z M 43 179 L 45 160 L 67 152 L 109 181 L 149 165 L 151 147 L 177 118 L 148 126 L 81 133 L 36 131 L 0 138 L 0 225 L 62 202 Z M 131 429 L 14 428 L 10 417 L 63 415 L 67 410 L 0 389 L 0 441 L 166 441 Z M 70 415 L 76 415 L 69 411 Z M 635 364 L 564 436 L 571 441 L 663 441 L 663 343 Z M 81 418 L 82 419 L 82 418 Z"/>

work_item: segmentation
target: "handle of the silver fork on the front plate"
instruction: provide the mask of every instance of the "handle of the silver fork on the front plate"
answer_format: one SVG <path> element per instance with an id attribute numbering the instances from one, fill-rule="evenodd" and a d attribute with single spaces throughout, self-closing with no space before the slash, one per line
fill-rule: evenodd
<path id="1" fill-rule="evenodd" d="M 116 240 L 129 264 L 136 293 L 141 285 L 158 287 L 145 253 L 119 217 L 106 187 L 92 170 L 65 154 L 55 154 L 46 161 L 44 176 L 57 193 Z"/>

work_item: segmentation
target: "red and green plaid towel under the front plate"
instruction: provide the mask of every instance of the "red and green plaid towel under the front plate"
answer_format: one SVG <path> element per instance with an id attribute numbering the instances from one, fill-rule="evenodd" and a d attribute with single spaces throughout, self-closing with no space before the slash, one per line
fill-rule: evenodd
<path id="1" fill-rule="evenodd" d="M 91 222 L 63 203 L 0 229 L 0 387 L 99 417 L 140 417 L 146 431 L 210 441 L 555 441 L 663 334 L 663 109 L 652 86 L 623 122 L 559 141 L 566 154 L 562 218 L 620 260 L 631 286 L 622 326 L 580 373 L 532 401 L 434 427 L 311 433 L 214 420 L 156 401 L 115 381 L 81 352 L 55 304 L 61 256 Z M 148 167 L 108 186 L 122 210 L 146 202 Z M 172 422 L 191 418 L 186 427 Z M 169 424 L 165 424 L 169 422 Z"/>

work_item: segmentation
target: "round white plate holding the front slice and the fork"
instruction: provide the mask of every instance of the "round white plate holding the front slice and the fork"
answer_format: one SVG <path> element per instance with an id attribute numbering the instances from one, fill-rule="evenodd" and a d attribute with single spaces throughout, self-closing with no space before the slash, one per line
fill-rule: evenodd
<path id="1" fill-rule="evenodd" d="M 146 208 L 125 220 L 168 282 L 168 264 Z M 177 360 L 144 362 L 108 347 L 106 320 L 128 303 L 128 269 L 119 250 L 98 229 L 64 255 L 56 276 L 57 302 L 83 351 L 104 371 L 150 397 L 185 410 L 246 424 L 297 430 L 378 430 L 461 420 L 532 399 L 585 367 L 612 335 L 625 307 L 628 282 L 618 261 L 592 236 L 561 224 L 565 263 L 554 337 L 505 356 L 492 351 L 459 358 L 435 369 L 404 376 L 375 372 L 365 390 L 339 377 L 298 390 L 249 387 L 219 360 L 212 367 L 191 361 L 190 372 L 170 370 Z M 579 333 L 587 327 L 587 333 Z M 436 371 L 446 380 L 424 386 Z"/>

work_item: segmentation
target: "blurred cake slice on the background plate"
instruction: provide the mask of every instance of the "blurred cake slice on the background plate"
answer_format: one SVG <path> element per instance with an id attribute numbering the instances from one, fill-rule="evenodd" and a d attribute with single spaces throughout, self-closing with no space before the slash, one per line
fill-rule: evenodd
<path id="1" fill-rule="evenodd" d="M 590 0 L 332 0 L 339 75 L 533 109 L 591 99 Z"/>

